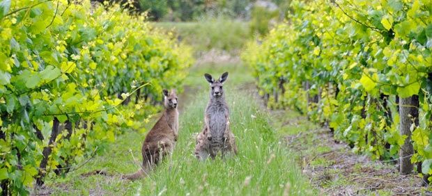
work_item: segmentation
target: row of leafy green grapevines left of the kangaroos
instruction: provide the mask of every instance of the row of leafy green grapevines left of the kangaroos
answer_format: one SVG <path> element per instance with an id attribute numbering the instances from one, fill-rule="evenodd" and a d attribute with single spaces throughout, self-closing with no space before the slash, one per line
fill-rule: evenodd
<path id="1" fill-rule="evenodd" d="M 191 65 L 188 47 L 117 4 L 19 0 L 0 10 L 0 179 L 9 193 L 27 195 L 35 177 L 67 172 L 121 128 L 141 127 L 136 113 L 154 112 L 141 97 L 160 100 Z M 119 106 L 134 92 L 137 104 Z"/>

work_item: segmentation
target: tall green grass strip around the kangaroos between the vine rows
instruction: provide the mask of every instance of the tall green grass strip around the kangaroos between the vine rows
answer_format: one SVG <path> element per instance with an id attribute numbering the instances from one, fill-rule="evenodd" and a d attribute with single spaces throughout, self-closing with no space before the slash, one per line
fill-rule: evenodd
<path id="1" fill-rule="evenodd" d="M 201 74 L 222 74 L 233 65 L 203 65 L 191 70 L 189 81 L 206 85 Z M 240 66 L 240 65 L 238 65 Z M 232 67 L 231 67 L 232 68 Z M 203 110 L 208 101 L 207 89 L 188 102 L 180 112 L 180 133 L 171 157 L 145 179 L 121 180 L 121 174 L 138 170 L 141 143 L 145 134 L 130 131 L 118 136 L 106 154 L 96 156 L 63 179 L 51 179 L 47 186 L 54 195 L 312 195 L 313 189 L 302 177 L 294 155 L 279 142 L 279 134 L 268 124 L 270 117 L 261 111 L 253 97 L 239 90 L 245 67 L 230 70 L 226 81 L 226 99 L 231 108 L 231 130 L 236 135 L 238 156 L 198 161 L 194 157 L 196 133 L 203 126 Z M 149 123 L 148 126 L 153 124 Z M 129 149 L 132 149 L 129 152 Z M 133 157 L 132 157 L 133 154 Z M 133 161 L 136 159 L 137 164 Z M 81 174 L 105 170 L 109 176 Z"/>

